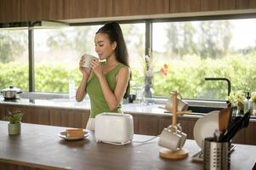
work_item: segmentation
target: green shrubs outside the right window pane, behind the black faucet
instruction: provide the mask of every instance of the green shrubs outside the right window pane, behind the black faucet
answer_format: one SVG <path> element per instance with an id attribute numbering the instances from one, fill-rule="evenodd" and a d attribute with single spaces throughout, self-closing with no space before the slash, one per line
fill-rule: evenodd
<path id="1" fill-rule="evenodd" d="M 256 50 L 247 55 L 233 54 L 223 59 L 198 59 L 189 63 L 169 63 L 167 77 L 154 77 L 155 96 L 168 96 L 177 90 L 186 99 L 204 99 L 211 90 L 215 90 L 215 99 L 225 99 L 226 82 L 206 82 L 204 77 L 227 77 L 231 81 L 231 90 L 254 91 L 256 88 Z"/>

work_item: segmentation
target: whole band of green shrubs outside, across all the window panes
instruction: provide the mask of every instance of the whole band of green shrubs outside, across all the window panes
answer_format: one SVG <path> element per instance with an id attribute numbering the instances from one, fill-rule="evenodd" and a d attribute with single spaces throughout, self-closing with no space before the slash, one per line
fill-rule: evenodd
<path id="1" fill-rule="evenodd" d="M 217 89 L 214 93 L 218 99 L 225 99 L 227 88 L 225 82 L 205 82 L 204 77 L 228 77 L 232 90 L 254 91 L 256 88 L 256 50 L 246 55 L 228 55 L 223 59 L 198 59 L 193 65 L 169 63 L 167 76 L 161 74 L 153 78 L 154 96 L 168 97 L 169 92 L 177 90 L 186 99 L 203 98 L 205 93 Z M 191 56 L 196 58 L 196 56 Z M 15 69 L 14 69 L 15 68 Z M 156 66 L 157 68 L 157 66 Z M 27 65 L 19 63 L 0 64 L 0 87 L 14 85 L 21 90 L 28 89 Z M 133 69 L 133 81 L 140 84 L 143 77 L 139 70 Z M 81 81 L 78 69 L 67 70 L 63 65 L 38 65 L 36 70 L 36 91 L 67 93 L 70 77 L 76 85 Z M 13 81 L 15 80 L 15 81 Z"/>

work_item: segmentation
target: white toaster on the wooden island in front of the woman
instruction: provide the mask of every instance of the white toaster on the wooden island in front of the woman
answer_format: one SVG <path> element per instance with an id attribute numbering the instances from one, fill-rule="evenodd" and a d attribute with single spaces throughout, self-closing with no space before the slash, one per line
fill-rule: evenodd
<path id="1" fill-rule="evenodd" d="M 94 134 L 97 142 L 128 144 L 134 137 L 133 116 L 122 113 L 101 113 L 95 117 Z"/>

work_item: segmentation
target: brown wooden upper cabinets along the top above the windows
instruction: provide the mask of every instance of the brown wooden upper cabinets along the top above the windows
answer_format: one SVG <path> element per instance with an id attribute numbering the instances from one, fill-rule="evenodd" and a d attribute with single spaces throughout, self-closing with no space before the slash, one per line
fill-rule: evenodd
<path id="1" fill-rule="evenodd" d="M 1 0 L 0 23 L 252 8 L 256 0 Z"/>

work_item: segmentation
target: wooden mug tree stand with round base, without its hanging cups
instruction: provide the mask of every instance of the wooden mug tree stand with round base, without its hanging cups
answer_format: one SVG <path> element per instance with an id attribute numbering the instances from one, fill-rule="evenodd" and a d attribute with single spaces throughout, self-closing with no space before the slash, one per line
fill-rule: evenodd
<path id="1" fill-rule="evenodd" d="M 173 97 L 173 108 L 172 109 L 166 109 L 167 111 L 170 111 L 173 113 L 172 118 L 172 125 L 171 127 L 174 127 L 177 132 L 177 115 L 178 114 L 185 114 L 185 113 L 191 113 L 191 111 L 177 111 L 178 104 L 177 104 L 177 91 L 174 91 L 171 93 L 171 97 Z M 180 148 L 179 150 L 169 150 L 167 148 L 161 148 L 159 150 L 159 156 L 165 159 L 184 159 L 188 156 L 189 151 Z"/>

